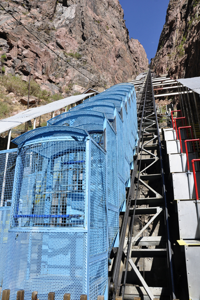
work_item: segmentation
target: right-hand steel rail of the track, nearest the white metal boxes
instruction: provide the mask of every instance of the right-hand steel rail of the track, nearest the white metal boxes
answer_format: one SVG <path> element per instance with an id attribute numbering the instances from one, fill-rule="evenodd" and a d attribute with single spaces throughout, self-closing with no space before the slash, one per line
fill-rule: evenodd
<path id="1" fill-rule="evenodd" d="M 151 78 L 151 74 L 150 74 Z M 161 179 L 162 179 L 162 192 L 164 198 L 164 219 L 165 219 L 165 234 L 166 234 L 166 249 L 167 249 L 167 263 L 168 263 L 168 270 L 169 270 L 169 283 L 170 283 L 170 297 L 171 299 L 175 299 L 175 286 L 174 286 L 174 276 L 173 276 L 173 265 L 172 265 L 172 249 L 171 249 L 171 242 L 170 242 L 170 233 L 169 233 L 169 221 L 168 221 L 168 209 L 167 209 L 167 201 L 166 201 L 166 189 L 165 189 L 165 181 L 164 181 L 164 169 L 162 163 L 162 151 L 161 151 L 161 141 L 159 135 L 159 126 L 158 126 L 158 119 L 157 119 L 157 112 L 155 109 L 155 98 L 153 93 L 153 84 L 151 80 L 151 91 L 152 91 L 152 98 L 153 98 L 153 106 L 155 112 L 155 120 L 156 120 L 156 128 L 158 132 L 158 145 L 159 145 L 159 157 L 160 157 L 160 170 L 161 170 Z"/>

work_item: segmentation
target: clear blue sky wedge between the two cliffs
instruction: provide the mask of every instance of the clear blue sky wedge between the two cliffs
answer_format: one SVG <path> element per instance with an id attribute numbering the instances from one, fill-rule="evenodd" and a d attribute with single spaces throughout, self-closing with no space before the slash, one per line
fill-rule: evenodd
<path id="1" fill-rule="evenodd" d="M 138 39 L 150 61 L 155 56 L 169 0 L 119 0 L 130 38 Z"/>

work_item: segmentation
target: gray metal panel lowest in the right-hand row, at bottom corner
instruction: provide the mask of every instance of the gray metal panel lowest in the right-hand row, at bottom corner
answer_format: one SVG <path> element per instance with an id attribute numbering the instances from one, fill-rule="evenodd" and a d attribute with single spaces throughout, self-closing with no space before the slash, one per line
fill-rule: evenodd
<path id="1" fill-rule="evenodd" d="M 184 246 L 189 298 L 200 298 L 200 246 Z"/>

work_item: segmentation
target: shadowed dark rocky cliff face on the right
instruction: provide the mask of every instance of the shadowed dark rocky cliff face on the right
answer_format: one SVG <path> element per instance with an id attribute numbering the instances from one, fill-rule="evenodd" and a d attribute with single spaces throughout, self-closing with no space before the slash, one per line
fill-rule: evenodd
<path id="1" fill-rule="evenodd" d="M 152 61 L 157 74 L 174 78 L 200 76 L 200 0 L 170 0 L 158 49 Z"/>

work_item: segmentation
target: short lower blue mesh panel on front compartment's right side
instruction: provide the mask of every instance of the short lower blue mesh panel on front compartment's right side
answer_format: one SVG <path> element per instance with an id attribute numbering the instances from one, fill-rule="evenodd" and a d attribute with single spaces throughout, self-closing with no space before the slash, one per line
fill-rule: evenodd
<path id="1" fill-rule="evenodd" d="M 89 276 L 90 276 L 90 286 L 89 286 L 89 299 L 97 300 L 98 295 L 104 295 L 107 276 L 108 276 L 108 263 L 107 258 L 93 262 L 89 265 Z"/>

